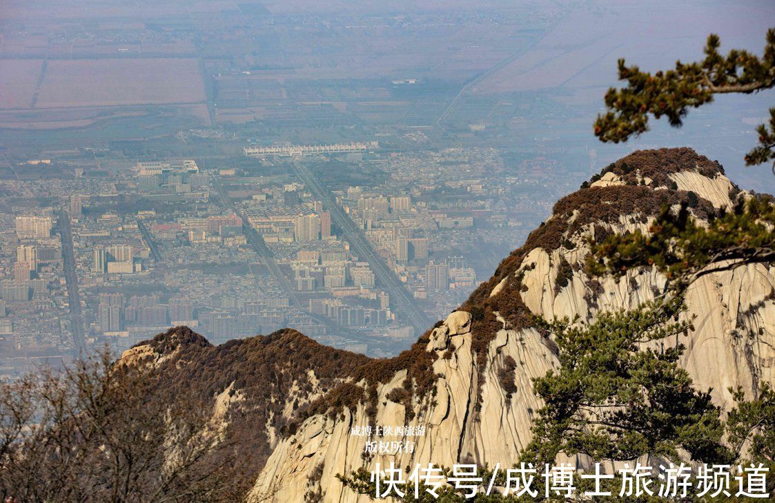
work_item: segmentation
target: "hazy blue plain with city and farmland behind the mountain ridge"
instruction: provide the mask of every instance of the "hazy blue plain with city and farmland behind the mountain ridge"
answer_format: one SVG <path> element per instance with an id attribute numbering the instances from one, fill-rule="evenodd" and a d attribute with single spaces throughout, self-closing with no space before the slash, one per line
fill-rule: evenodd
<path id="1" fill-rule="evenodd" d="M 763 93 L 594 137 L 616 59 L 696 60 L 715 27 L 675 20 L 706 5 L 377 4 L 12 1 L 0 378 L 177 325 L 394 356 L 634 149 L 691 146 L 772 186 L 742 161 Z M 770 17 L 725 46 L 758 50 Z"/>

